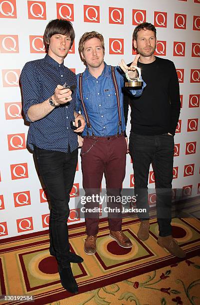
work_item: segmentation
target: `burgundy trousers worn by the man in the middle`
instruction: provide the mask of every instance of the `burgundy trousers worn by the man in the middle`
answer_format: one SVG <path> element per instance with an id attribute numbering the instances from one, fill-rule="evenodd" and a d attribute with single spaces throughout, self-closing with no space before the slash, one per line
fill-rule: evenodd
<path id="1" fill-rule="evenodd" d="M 124 135 L 111 137 L 84 138 L 81 150 L 83 188 L 85 196 L 99 195 L 103 174 L 106 179 L 107 196 L 121 195 L 122 182 L 126 172 L 127 144 Z M 87 201 L 87 199 L 86 199 Z M 112 201 L 112 202 L 111 202 Z M 108 213 L 109 228 L 120 231 L 122 228 L 121 203 L 108 200 L 107 206 L 117 210 Z M 99 202 L 86 202 L 85 208 L 98 208 Z M 85 213 L 87 235 L 98 233 L 99 212 Z"/>

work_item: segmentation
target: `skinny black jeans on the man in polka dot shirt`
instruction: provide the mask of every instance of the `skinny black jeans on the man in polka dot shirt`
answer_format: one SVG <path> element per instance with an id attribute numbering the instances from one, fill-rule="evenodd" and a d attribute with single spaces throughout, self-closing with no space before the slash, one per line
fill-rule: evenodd
<path id="1" fill-rule="evenodd" d="M 51 203 L 50 247 L 54 248 L 56 259 L 64 268 L 69 263 L 68 203 L 76 172 L 78 150 L 66 153 L 34 147 L 33 153 Z"/>

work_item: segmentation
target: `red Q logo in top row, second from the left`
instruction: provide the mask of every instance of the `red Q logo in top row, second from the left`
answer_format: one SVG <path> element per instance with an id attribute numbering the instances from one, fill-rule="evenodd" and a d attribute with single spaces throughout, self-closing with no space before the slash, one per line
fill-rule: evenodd
<path id="1" fill-rule="evenodd" d="M 46 2 L 27 1 L 28 19 L 46 20 Z"/>

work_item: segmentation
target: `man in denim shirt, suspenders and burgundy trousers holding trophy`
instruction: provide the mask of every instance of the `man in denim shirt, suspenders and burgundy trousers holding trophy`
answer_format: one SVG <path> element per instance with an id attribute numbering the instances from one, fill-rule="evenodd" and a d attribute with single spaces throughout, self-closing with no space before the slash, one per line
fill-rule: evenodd
<path id="1" fill-rule="evenodd" d="M 81 151 L 85 195 L 99 195 L 104 174 L 107 195 L 116 198 L 121 194 L 126 168 L 127 143 L 124 137 L 126 126 L 122 92 L 124 78 L 120 68 L 115 67 L 116 89 L 111 66 L 104 62 L 104 53 L 104 39 L 101 34 L 92 31 L 82 35 L 79 41 L 79 54 L 86 65 L 86 70 L 82 77 L 80 77 L 80 74 L 77 75 L 79 88 L 77 86 L 76 111 L 81 110 L 85 118 L 88 116 L 88 120 L 86 119 L 87 127 L 85 127 L 82 134 L 84 141 Z M 128 75 L 131 79 L 136 77 L 136 70 L 133 66 L 137 65 L 137 59 L 138 57 L 128 68 Z M 121 65 L 123 68 L 123 64 Z M 80 85 L 82 85 L 81 90 Z M 143 89 L 138 91 L 130 90 L 131 94 L 136 96 L 140 96 L 142 91 Z M 117 102 L 118 94 L 119 107 Z M 131 248 L 130 239 L 122 232 L 121 204 L 116 201 L 111 203 L 107 203 L 114 210 L 114 212 L 108 212 L 110 237 L 116 240 L 121 247 Z M 95 208 L 92 213 L 89 210 L 86 210 L 85 213 L 87 238 L 84 251 L 86 254 L 94 254 L 96 252 L 99 223 L 98 207 L 98 200 L 94 200 L 91 204 L 87 202 L 85 205 L 86 209 Z"/>

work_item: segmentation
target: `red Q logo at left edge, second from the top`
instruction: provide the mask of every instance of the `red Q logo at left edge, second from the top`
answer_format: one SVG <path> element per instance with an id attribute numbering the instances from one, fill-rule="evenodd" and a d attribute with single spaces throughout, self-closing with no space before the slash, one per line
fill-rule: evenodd
<path id="1" fill-rule="evenodd" d="M 18 53 L 18 35 L 0 35 L 0 53 Z"/>

